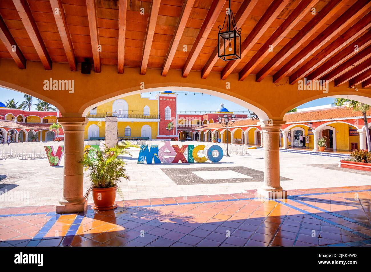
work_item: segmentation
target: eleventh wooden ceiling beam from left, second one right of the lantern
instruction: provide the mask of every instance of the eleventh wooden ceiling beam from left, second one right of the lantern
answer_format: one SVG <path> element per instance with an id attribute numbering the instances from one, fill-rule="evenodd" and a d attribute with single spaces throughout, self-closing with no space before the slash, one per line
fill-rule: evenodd
<path id="1" fill-rule="evenodd" d="M 273 48 L 292 30 L 294 26 L 318 3 L 319 0 L 303 0 L 290 13 L 286 20 L 269 37 L 265 44 L 249 60 L 249 62 L 239 72 L 239 80 L 244 80 L 260 62 L 272 52 Z"/>

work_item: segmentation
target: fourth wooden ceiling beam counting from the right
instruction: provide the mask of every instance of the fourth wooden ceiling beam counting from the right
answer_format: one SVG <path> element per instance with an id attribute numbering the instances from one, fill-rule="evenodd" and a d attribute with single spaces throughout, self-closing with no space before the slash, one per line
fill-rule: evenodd
<path id="1" fill-rule="evenodd" d="M 361 64 L 362 62 L 369 59 L 370 57 L 371 57 L 371 46 L 368 46 L 365 49 L 363 49 L 361 52 L 358 52 L 357 54 L 355 54 L 354 57 L 351 57 L 346 62 L 342 63 L 341 65 L 333 69 L 331 72 L 323 76 L 321 80 L 332 81 L 340 77 L 342 74 L 347 73 L 349 70 Z M 351 78 L 352 77 L 349 77 L 348 80 Z M 345 80 L 344 82 L 347 82 L 348 80 Z"/>

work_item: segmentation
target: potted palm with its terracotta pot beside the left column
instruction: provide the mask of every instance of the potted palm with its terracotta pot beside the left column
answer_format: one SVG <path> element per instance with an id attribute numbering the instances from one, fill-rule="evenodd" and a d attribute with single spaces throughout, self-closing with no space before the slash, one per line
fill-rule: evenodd
<path id="1" fill-rule="evenodd" d="M 126 163 L 119 156 L 131 156 L 127 150 L 130 147 L 138 146 L 129 141 L 122 141 L 115 147 L 104 145 L 102 150 L 94 147 L 85 150 L 84 158 L 79 163 L 82 163 L 85 171 L 90 171 L 88 177 L 91 186 L 86 191 L 85 198 L 92 192 L 94 210 L 111 210 L 117 207 L 117 183 L 121 182 L 122 178 L 130 179 L 126 173 Z"/>

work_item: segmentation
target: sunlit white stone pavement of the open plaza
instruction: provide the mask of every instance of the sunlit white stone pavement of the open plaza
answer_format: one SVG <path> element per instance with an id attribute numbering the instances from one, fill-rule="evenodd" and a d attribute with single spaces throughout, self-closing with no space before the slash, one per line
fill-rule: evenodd
<path id="1" fill-rule="evenodd" d="M 232 155 L 223 157 L 220 163 L 177 163 L 170 165 L 137 164 L 138 150 L 133 149 L 133 157 L 125 157 L 127 172 L 131 180 L 119 184 L 122 196 L 128 199 L 152 199 L 178 196 L 219 195 L 224 193 L 244 193 L 255 190 L 262 185 L 263 150 L 250 150 L 250 155 Z M 323 187 L 362 186 L 371 184 L 371 176 L 361 171 L 334 167 L 339 158 L 316 155 L 302 155 L 280 152 L 281 186 L 286 190 L 311 189 Z M 327 167 L 328 166 L 328 167 Z M 248 169 L 244 175 L 252 178 L 239 178 L 238 172 L 227 176 L 227 167 Z M 212 170 L 222 179 L 205 179 L 195 175 L 202 171 Z M 167 173 L 180 172 L 176 178 Z M 232 170 L 233 168 L 231 168 Z M 224 172 L 223 172 L 224 171 Z M 237 170 L 238 171 L 238 170 Z M 193 173 L 192 173 L 193 172 Z M 197 176 L 198 184 L 187 181 L 185 173 Z M 230 172 L 229 172 L 230 173 Z M 222 175 L 224 174 L 224 175 Z M 56 205 L 62 197 L 63 160 L 58 167 L 51 167 L 47 159 L 35 160 L 0 160 L 0 191 L 12 194 L 28 194 L 29 197 L 19 201 L 1 201 L 2 207 Z M 227 182 L 226 177 L 229 179 Z M 223 180 L 224 179 L 224 180 Z M 190 181 L 188 179 L 188 181 Z M 226 181 L 226 182 L 223 182 Z M 84 174 L 84 190 L 90 183 Z M 116 200 L 122 200 L 117 195 Z M 92 196 L 89 196 L 92 202 Z"/>

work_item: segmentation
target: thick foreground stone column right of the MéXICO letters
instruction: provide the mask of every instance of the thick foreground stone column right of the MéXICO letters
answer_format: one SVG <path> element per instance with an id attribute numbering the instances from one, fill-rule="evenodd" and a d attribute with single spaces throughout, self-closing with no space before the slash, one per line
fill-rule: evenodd
<path id="1" fill-rule="evenodd" d="M 286 191 L 280 186 L 279 140 L 283 120 L 259 122 L 264 135 L 264 184 L 258 189 L 266 198 L 286 198 Z"/>

